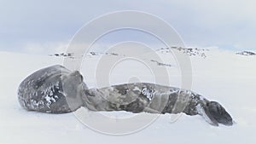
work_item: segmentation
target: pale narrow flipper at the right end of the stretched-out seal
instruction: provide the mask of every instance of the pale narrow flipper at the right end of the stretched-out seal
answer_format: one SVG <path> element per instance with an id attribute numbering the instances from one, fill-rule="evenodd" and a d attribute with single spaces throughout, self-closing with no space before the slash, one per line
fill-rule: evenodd
<path id="1" fill-rule="evenodd" d="M 212 124 L 213 126 L 218 126 L 218 121 L 212 117 L 212 114 L 208 111 L 207 107 L 201 107 L 200 105 L 196 106 L 197 112 L 205 118 L 207 123 Z"/>

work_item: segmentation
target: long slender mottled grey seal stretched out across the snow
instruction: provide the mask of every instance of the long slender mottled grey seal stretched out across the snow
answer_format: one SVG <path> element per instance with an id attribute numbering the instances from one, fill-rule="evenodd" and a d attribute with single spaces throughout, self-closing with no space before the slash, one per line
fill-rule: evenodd
<path id="1" fill-rule="evenodd" d="M 217 101 L 208 101 L 187 89 L 159 84 L 119 84 L 102 89 L 85 89 L 84 107 L 91 111 L 186 113 L 201 115 L 214 126 L 232 125 L 233 119 Z"/>

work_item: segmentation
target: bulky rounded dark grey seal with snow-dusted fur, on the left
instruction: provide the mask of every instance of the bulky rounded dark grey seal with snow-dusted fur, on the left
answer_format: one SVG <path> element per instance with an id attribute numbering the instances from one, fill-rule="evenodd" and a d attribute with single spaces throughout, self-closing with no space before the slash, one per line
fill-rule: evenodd
<path id="1" fill-rule="evenodd" d="M 82 106 L 82 89 L 88 89 L 79 72 L 61 65 L 49 66 L 32 73 L 18 89 L 21 107 L 26 110 L 65 113 Z"/>

